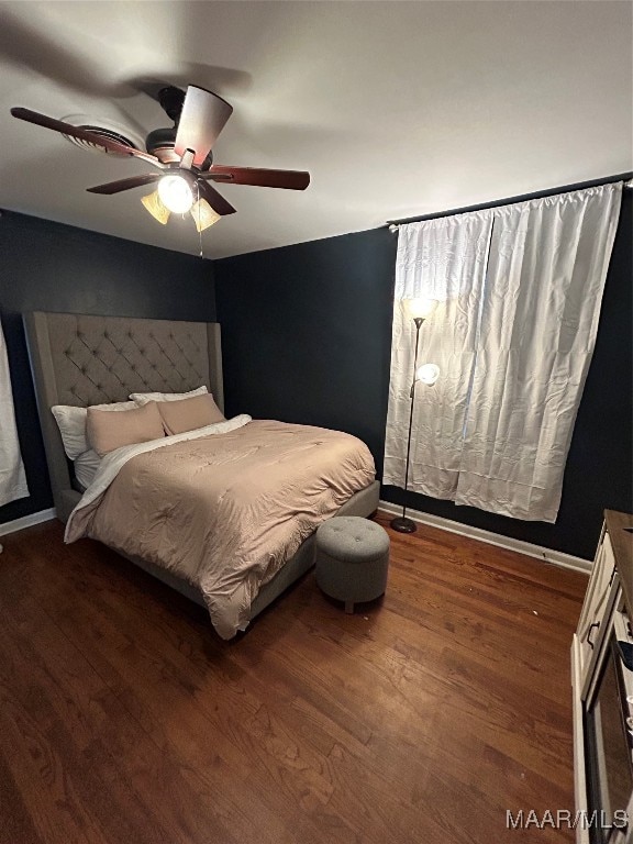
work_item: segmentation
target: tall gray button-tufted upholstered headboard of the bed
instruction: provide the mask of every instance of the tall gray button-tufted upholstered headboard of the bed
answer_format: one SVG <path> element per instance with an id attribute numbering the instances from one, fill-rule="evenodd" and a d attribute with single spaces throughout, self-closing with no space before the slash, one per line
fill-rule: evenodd
<path id="1" fill-rule="evenodd" d="M 185 392 L 204 384 L 224 409 L 220 325 L 76 313 L 24 314 L 40 423 L 57 515 L 79 499 L 53 404 L 125 401 L 131 392 Z"/>

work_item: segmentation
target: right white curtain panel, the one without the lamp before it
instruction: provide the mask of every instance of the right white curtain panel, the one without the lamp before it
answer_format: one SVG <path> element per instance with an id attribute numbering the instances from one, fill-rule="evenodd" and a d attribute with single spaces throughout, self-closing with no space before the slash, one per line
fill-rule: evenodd
<path id="1" fill-rule="evenodd" d="M 496 211 L 456 503 L 556 521 L 621 193 Z"/>

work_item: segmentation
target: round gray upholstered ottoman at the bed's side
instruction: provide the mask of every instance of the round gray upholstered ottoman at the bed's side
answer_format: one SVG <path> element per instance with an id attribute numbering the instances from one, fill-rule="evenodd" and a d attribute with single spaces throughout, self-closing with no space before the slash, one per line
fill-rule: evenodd
<path id="1" fill-rule="evenodd" d="M 316 582 L 331 598 L 354 604 L 373 601 L 387 587 L 389 535 L 358 515 L 336 515 L 316 530 Z"/>

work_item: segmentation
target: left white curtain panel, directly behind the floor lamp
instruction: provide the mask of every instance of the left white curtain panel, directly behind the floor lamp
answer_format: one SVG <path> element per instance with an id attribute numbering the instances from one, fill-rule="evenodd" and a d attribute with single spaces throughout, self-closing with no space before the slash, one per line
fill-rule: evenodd
<path id="1" fill-rule="evenodd" d="M 491 224 L 491 211 L 476 211 L 400 226 L 384 484 L 404 484 L 415 326 L 402 302 L 427 297 L 438 307 L 422 324 L 419 360 L 442 375 L 415 390 L 409 489 L 455 497 Z"/>

